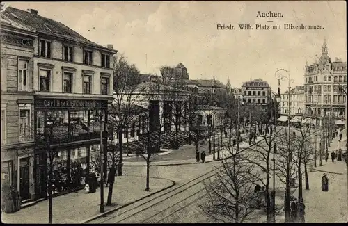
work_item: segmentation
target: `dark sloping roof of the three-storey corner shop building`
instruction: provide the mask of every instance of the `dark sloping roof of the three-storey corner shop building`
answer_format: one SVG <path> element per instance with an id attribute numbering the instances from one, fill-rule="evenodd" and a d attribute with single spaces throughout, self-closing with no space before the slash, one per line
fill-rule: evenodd
<path id="1" fill-rule="evenodd" d="M 40 15 L 33 15 L 29 11 L 19 10 L 12 7 L 6 8 L 6 10 L 2 13 L 4 16 L 10 19 L 10 21 L 21 24 L 22 26 L 26 26 L 33 31 L 47 33 L 49 35 L 62 36 L 68 40 L 81 42 L 82 44 L 104 49 L 105 51 L 117 52 L 116 50 L 112 50 L 103 47 L 102 45 L 98 45 L 95 42 L 91 42 L 76 31 L 70 29 L 68 26 L 65 26 L 61 22 L 57 22 L 53 19 L 42 17 Z"/>

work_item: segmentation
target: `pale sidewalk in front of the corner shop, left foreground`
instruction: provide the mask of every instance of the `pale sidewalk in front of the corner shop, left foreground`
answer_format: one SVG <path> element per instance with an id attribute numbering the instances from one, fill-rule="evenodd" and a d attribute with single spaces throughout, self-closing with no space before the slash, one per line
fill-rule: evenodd
<path id="1" fill-rule="evenodd" d="M 145 191 L 145 178 L 122 176 L 116 177 L 113 184 L 113 206 L 106 207 L 106 211 L 113 211 L 122 206 L 141 200 L 148 195 L 163 191 L 173 186 L 168 179 L 150 178 L 151 191 Z M 104 188 L 104 203 L 107 201 L 109 188 Z M 3 223 L 48 223 L 48 200 L 38 202 L 16 213 L 2 213 Z M 88 218 L 100 215 L 100 188 L 96 193 L 68 193 L 53 199 L 53 223 L 81 223 Z"/>

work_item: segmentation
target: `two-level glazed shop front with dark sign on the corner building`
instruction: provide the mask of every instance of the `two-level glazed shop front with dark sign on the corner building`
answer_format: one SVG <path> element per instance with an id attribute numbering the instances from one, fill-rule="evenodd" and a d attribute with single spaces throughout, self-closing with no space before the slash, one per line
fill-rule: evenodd
<path id="1" fill-rule="evenodd" d="M 107 105 L 108 100 L 35 99 L 37 199 L 48 195 L 50 167 L 54 193 L 85 185 L 88 173 L 95 171 L 95 159 L 100 159 L 101 134 L 106 143 Z"/>

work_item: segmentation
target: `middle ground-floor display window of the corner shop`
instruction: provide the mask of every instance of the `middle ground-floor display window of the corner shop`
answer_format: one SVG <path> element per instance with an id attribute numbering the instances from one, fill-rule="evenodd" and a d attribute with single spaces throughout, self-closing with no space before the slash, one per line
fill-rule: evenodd
<path id="1" fill-rule="evenodd" d="M 72 187 L 84 185 L 87 174 L 87 148 L 70 150 L 70 181 Z"/>

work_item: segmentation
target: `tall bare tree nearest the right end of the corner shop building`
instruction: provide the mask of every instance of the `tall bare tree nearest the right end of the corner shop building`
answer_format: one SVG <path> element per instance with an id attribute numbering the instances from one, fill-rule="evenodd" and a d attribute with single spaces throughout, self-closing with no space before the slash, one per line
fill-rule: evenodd
<path id="1" fill-rule="evenodd" d="M 120 147 L 118 163 L 118 176 L 122 176 L 123 140 L 122 134 L 127 129 L 130 118 L 134 112 L 134 105 L 139 102 L 139 97 L 144 89 L 138 86 L 141 83 L 139 70 L 135 65 L 129 65 L 127 58 L 121 54 L 116 56 L 113 70 L 114 100 L 109 111 L 109 124 L 116 128 Z M 140 88 L 140 89 L 139 89 Z"/>

